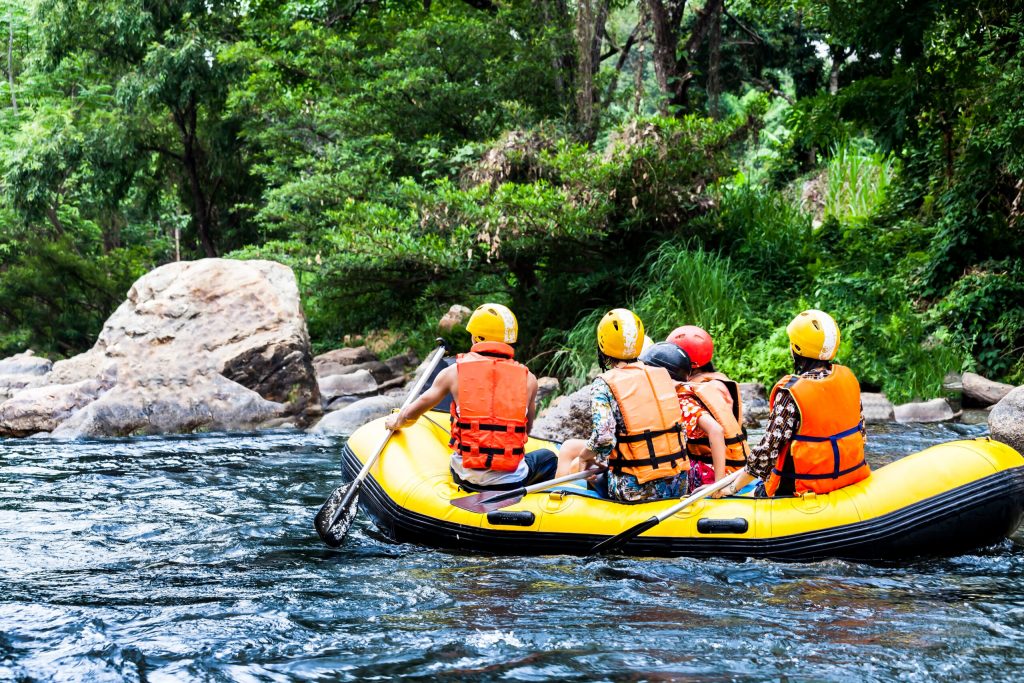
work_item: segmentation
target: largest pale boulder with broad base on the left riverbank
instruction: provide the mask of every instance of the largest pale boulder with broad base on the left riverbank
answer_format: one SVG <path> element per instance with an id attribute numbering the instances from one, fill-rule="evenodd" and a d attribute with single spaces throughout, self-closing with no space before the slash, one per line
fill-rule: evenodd
<path id="1" fill-rule="evenodd" d="M 98 382 L 94 396 L 51 388 L 89 380 Z M 0 433 L 187 432 L 286 416 L 301 424 L 321 412 L 295 275 L 271 261 L 204 259 L 151 271 L 95 345 L 53 364 L 46 381 L 40 389 L 67 398 L 71 413 L 36 414 L 36 394 L 15 394 L 0 404 Z"/>

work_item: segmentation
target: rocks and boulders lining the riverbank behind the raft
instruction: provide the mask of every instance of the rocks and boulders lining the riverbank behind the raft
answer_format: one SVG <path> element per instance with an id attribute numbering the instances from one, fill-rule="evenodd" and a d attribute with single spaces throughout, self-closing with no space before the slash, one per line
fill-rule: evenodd
<path id="1" fill-rule="evenodd" d="M 452 306 L 442 333 L 470 311 Z M 382 344 L 388 346 L 393 344 Z M 95 345 L 53 362 L 31 350 L 0 360 L 0 436 L 76 438 L 259 429 L 291 425 L 348 434 L 397 408 L 420 359 L 381 358 L 369 346 L 313 356 L 295 275 L 270 261 L 171 263 L 140 278 Z M 548 407 L 534 434 L 554 440 L 590 431 L 590 393 L 559 395 L 540 378 Z M 950 375 L 946 398 L 893 405 L 864 393 L 868 423 L 989 422 L 1024 451 L 1024 387 L 972 373 Z M 740 385 L 748 426 L 768 417 L 765 387 Z"/>

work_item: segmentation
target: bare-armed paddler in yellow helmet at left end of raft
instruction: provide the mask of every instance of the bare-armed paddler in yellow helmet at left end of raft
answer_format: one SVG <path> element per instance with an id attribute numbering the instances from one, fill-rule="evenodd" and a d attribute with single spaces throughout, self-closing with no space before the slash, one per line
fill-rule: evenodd
<path id="1" fill-rule="evenodd" d="M 534 425 L 537 378 L 513 359 L 518 323 L 506 306 L 486 303 L 466 325 L 469 353 L 442 370 L 430 388 L 390 416 L 388 429 L 401 429 L 451 393 L 452 479 L 470 490 L 509 490 L 554 477 L 552 451 L 525 453 Z"/>

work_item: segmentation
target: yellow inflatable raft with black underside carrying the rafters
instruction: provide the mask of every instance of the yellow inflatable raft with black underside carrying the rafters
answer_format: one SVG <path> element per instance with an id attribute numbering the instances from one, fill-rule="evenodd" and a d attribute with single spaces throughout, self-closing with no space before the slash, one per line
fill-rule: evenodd
<path id="1" fill-rule="evenodd" d="M 349 438 L 353 475 L 385 436 L 383 420 Z M 676 501 L 623 504 L 568 484 L 478 514 L 449 473 L 447 416 L 428 413 L 395 434 L 360 501 L 398 542 L 501 554 L 586 554 Z M 527 450 L 557 444 L 530 439 Z M 627 555 L 857 560 L 954 555 L 1001 541 L 1024 516 L 1024 458 L 987 438 L 933 446 L 824 496 L 703 500 L 630 541 Z"/>

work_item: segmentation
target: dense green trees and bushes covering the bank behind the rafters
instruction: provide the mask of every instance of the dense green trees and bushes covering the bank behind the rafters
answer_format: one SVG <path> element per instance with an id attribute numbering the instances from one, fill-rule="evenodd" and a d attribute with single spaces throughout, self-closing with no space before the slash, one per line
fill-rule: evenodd
<path id="1" fill-rule="evenodd" d="M 91 343 L 133 279 L 295 268 L 317 347 L 514 306 L 771 381 L 830 311 L 896 399 L 1024 382 L 1024 12 L 905 0 L 0 0 L 0 352 Z"/>

